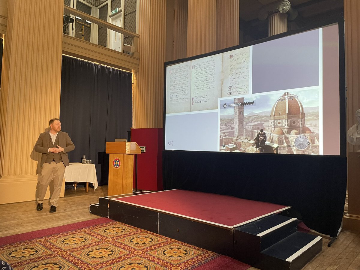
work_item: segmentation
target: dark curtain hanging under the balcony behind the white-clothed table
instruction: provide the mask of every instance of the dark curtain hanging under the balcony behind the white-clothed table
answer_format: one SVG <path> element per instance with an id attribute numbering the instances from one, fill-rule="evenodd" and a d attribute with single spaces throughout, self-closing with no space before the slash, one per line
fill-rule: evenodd
<path id="1" fill-rule="evenodd" d="M 60 121 L 75 144 L 70 162 L 82 156 L 95 163 L 99 184 L 98 153 L 105 142 L 127 138 L 132 126 L 132 73 L 85 60 L 62 57 Z M 105 166 L 104 166 L 105 167 Z"/>

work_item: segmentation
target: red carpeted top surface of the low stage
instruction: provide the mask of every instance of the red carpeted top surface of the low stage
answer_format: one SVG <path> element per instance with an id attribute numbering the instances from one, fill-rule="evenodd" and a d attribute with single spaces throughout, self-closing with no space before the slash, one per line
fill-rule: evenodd
<path id="1" fill-rule="evenodd" d="M 289 208 L 274 203 L 180 189 L 122 197 L 117 200 L 230 228 Z"/>

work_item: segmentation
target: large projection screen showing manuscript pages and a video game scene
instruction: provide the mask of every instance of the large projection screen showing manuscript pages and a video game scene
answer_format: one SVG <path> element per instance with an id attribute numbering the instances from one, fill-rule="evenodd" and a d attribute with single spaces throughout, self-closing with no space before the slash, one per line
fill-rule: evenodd
<path id="1" fill-rule="evenodd" d="M 340 155 L 338 24 L 165 63 L 165 150 Z"/>

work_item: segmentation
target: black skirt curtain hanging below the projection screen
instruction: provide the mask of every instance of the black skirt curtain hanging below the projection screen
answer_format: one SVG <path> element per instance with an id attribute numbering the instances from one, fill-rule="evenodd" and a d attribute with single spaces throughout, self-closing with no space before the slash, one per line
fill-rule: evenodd
<path id="1" fill-rule="evenodd" d="M 346 179 L 341 156 L 163 151 L 164 190 L 292 206 L 306 226 L 331 237 L 341 225 Z"/>

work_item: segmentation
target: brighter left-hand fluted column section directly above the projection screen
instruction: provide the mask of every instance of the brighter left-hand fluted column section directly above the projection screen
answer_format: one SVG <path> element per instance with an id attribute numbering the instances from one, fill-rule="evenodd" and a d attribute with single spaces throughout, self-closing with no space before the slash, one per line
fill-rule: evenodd
<path id="1" fill-rule="evenodd" d="M 189 0 L 186 56 L 216 50 L 216 0 Z"/>

